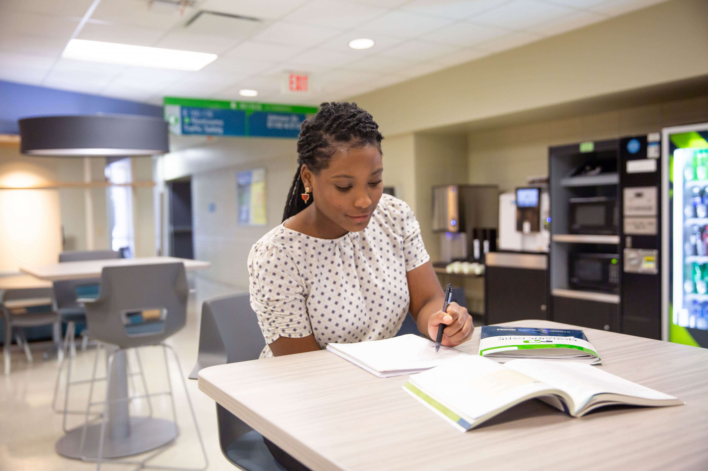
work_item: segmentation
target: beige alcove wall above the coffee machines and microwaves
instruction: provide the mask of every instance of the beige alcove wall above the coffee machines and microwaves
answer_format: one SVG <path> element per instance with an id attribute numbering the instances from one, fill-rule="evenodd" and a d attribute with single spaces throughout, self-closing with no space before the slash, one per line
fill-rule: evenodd
<path id="1" fill-rule="evenodd" d="M 467 134 L 469 182 L 502 191 L 547 175 L 548 147 L 659 132 L 662 127 L 708 121 L 708 95 L 562 120 L 483 129 Z"/>

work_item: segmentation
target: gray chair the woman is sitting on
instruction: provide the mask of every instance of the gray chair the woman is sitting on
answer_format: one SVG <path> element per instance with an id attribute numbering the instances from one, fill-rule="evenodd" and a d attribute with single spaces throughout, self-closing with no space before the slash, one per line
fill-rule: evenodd
<path id="1" fill-rule="evenodd" d="M 202 304 L 199 354 L 190 378 L 208 366 L 258 359 L 265 347 L 249 293 L 228 294 Z M 219 446 L 224 457 L 246 471 L 285 471 L 275 461 L 263 436 L 217 404 Z"/>

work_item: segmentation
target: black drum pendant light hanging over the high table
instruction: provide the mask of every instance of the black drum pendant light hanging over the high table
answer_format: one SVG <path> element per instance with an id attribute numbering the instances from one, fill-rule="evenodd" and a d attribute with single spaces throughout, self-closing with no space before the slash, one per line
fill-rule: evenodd
<path id="1" fill-rule="evenodd" d="M 20 151 L 30 156 L 153 156 L 169 152 L 168 124 L 159 117 L 44 116 L 18 123 Z"/>

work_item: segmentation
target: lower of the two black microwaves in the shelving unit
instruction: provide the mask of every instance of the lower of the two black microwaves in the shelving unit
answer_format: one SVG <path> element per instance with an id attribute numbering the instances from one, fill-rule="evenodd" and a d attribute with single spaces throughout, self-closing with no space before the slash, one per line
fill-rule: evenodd
<path id="1" fill-rule="evenodd" d="M 571 289 L 619 292 L 619 255 L 610 253 L 573 253 L 569 257 Z"/>

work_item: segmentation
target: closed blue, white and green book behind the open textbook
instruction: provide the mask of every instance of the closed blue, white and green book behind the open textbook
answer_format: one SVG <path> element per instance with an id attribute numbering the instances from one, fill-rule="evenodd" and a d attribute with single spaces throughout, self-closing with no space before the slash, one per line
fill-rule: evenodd
<path id="1" fill-rule="evenodd" d="M 504 363 L 518 358 L 554 361 L 602 362 L 582 330 L 483 325 L 479 354 Z"/>

